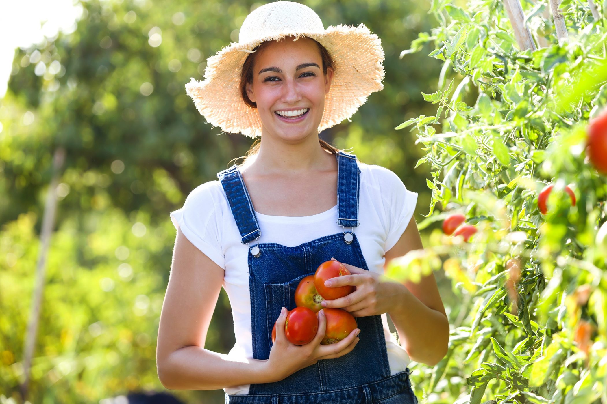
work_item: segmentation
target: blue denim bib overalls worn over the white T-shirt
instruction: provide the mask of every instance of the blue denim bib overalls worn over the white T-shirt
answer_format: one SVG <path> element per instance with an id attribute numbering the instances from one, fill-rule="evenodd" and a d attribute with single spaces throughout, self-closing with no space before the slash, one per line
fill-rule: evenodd
<path id="1" fill-rule="evenodd" d="M 334 257 L 368 270 L 354 227 L 358 227 L 361 173 L 356 156 L 342 151 L 337 158 L 337 205 L 343 233 L 320 237 L 296 247 L 278 243 L 249 245 L 249 289 L 253 357 L 270 356 L 271 330 L 280 309 L 296 307 L 294 293 L 299 281 L 313 275 L 320 263 Z M 242 243 L 256 240 L 261 232 L 236 165 L 217 174 L 228 198 Z M 349 228 L 350 231 L 345 229 Z M 251 384 L 249 394 L 226 394 L 229 404 L 347 404 L 417 403 L 407 368 L 390 376 L 381 316 L 356 318 L 361 329 L 353 351 L 336 359 L 321 359 L 276 383 Z"/>

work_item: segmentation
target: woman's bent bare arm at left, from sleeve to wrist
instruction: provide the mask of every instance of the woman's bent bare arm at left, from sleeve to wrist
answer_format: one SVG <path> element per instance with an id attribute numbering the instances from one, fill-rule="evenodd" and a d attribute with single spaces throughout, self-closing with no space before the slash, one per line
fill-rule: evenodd
<path id="1" fill-rule="evenodd" d="M 158 328 L 156 363 L 164 387 L 211 390 L 274 381 L 266 372 L 266 360 L 238 362 L 205 349 L 223 274 L 178 229 Z"/>

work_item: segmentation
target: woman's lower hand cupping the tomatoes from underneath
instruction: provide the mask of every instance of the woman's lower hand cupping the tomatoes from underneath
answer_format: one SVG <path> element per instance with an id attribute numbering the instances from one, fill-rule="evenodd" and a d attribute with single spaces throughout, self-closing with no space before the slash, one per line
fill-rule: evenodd
<path id="1" fill-rule="evenodd" d="M 272 345 L 270 358 L 266 362 L 270 382 L 285 379 L 299 369 L 314 365 L 319 359 L 333 359 L 344 356 L 354 349 L 359 341 L 357 335 L 360 329 L 356 328 L 350 335 L 337 343 L 320 345 L 327 329 L 327 318 L 324 311 L 321 310 L 318 316 L 318 331 L 314 339 L 305 345 L 295 345 L 289 342 L 285 336 L 286 320 L 287 309 L 283 307 L 278 320 L 276 320 L 276 342 Z"/>

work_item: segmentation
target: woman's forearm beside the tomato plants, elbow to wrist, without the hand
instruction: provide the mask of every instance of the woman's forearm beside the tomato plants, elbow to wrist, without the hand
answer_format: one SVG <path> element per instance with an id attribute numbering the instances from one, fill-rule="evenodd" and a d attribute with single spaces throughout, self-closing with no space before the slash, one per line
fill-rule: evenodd
<path id="1" fill-rule="evenodd" d="M 389 311 L 403 348 L 415 362 L 435 366 L 447 354 L 449 320 L 438 310 L 424 305 L 401 283 L 401 298 Z"/>

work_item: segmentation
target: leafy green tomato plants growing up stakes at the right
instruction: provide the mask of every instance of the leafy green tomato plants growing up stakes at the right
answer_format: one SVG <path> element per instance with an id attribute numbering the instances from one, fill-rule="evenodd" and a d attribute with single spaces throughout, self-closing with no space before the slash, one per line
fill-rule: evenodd
<path id="1" fill-rule="evenodd" d="M 416 132 L 418 165 L 432 170 L 419 227 L 459 212 L 478 229 L 467 243 L 435 228 L 425 251 L 390 268 L 411 279 L 442 269 L 462 302 L 447 356 L 412 373 L 429 402 L 607 403 L 607 178 L 586 154 L 589 119 L 607 114 L 605 2 L 597 20 L 589 2 L 564 1 L 560 41 L 548 4 L 522 3 L 536 50 L 520 50 L 501 1 L 433 0 L 440 24 L 405 51 L 432 42 L 443 61 L 438 91 L 424 94 L 436 111 L 397 127 Z"/>

